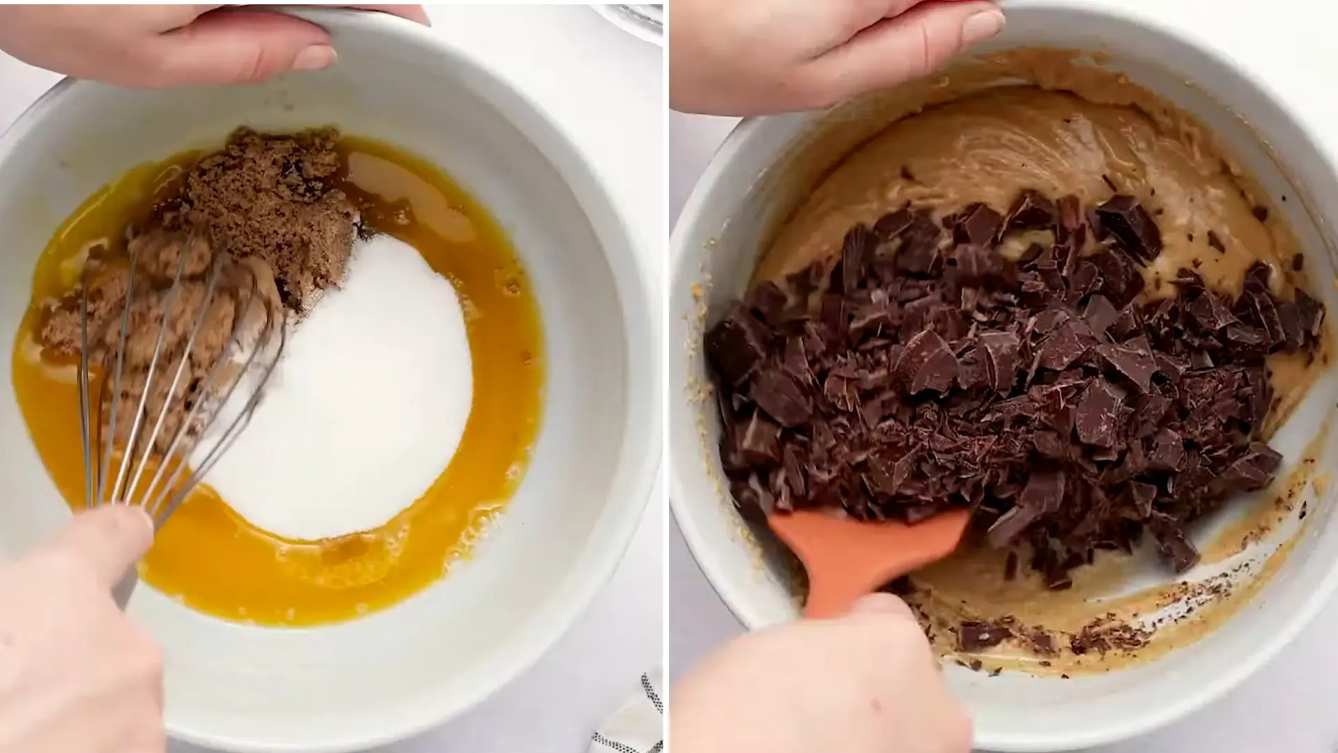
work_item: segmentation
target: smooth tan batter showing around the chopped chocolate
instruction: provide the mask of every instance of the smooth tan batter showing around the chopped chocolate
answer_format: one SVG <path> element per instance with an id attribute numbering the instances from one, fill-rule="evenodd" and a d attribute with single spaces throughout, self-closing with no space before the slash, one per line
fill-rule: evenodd
<path id="1" fill-rule="evenodd" d="M 1024 189 L 1052 197 L 1077 194 L 1084 205 L 1105 201 L 1116 190 L 1137 197 L 1155 214 L 1164 244 L 1157 260 L 1143 269 L 1145 297 L 1173 293 L 1171 280 L 1180 268 L 1192 268 L 1215 289 L 1238 295 L 1246 269 L 1256 260 L 1272 268 L 1278 295 L 1290 297 L 1306 285 L 1303 272 L 1291 265 L 1301 252 L 1291 229 L 1196 118 L 1060 50 L 986 56 L 831 114 L 761 178 L 759 190 L 781 206 L 791 205 L 792 212 L 764 245 L 755 279 L 779 279 L 834 257 L 852 225 L 872 224 L 907 202 L 931 208 L 938 217 L 977 201 L 1005 212 Z M 1255 216 L 1256 208 L 1266 210 L 1263 220 Z M 1050 240 L 1049 233 L 1014 237 L 1001 252 L 1016 255 L 1028 241 L 1042 238 Z M 1266 435 L 1286 422 L 1333 352 L 1330 326 L 1315 358 L 1270 358 L 1275 403 Z M 1270 494 L 1246 509 L 1238 502 L 1240 517 L 1203 547 L 1204 563 L 1219 563 L 1272 533 L 1288 517 L 1311 470 L 1313 462 L 1303 462 Z M 918 591 L 914 600 L 933 626 L 935 648 L 946 657 L 957 654 L 953 630 L 962 619 L 1013 616 L 1062 635 L 1107 614 L 1136 623 L 1168 606 L 1203 602 L 1191 615 L 1159 626 L 1151 643 L 1132 654 L 1062 651 L 1042 663 L 1005 643 L 986 657 L 987 667 L 1041 674 L 1109 671 L 1163 655 L 1222 624 L 1267 583 L 1291 545 L 1284 543 L 1243 577 L 1223 579 L 1231 580 L 1230 588 L 1172 581 L 1131 591 L 1137 572 L 1161 565 L 1147 552 L 1133 557 L 1098 552 L 1092 565 L 1072 572 L 1072 588 L 1050 591 L 1029 572 L 1025 556 L 1017 577 L 1005 579 L 1008 553 L 974 539 L 911 580 Z"/>

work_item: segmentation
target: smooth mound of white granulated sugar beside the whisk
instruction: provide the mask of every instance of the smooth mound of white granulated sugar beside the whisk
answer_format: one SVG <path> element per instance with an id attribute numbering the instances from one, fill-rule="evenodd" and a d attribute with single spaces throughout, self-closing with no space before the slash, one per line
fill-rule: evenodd
<path id="1" fill-rule="evenodd" d="M 250 426 L 205 482 L 284 539 L 379 528 L 450 464 L 472 399 L 455 288 L 376 236 L 355 247 L 344 288 L 290 330 Z"/>

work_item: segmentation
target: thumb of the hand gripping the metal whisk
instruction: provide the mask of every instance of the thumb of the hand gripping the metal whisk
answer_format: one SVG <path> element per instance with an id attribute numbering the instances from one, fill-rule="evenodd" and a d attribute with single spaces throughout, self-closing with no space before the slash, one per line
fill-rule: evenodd
<path id="1" fill-rule="evenodd" d="M 154 543 L 154 521 L 139 505 L 99 505 L 76 513 L 47 545 L 84 564 L 108 591 Z"/>

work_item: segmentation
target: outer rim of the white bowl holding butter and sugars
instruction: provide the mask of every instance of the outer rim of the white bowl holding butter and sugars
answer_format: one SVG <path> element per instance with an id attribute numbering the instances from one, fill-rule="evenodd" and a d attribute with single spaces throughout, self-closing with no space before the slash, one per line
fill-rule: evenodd
<path id="1" fill-rule="evenodd" d="M 479 79 L 487 82 L 487 98 L 508 100 L 511 107 L 526 111 L 527 127 L 543 131 L 545 146 L 541 151 L 571 189 L 578 204 L 595 202 L 598 212 L 607 220 L 606 229 L 614 236 L 614 243 L 599 244 L 599 249 L 613 271 L 614 292 L 619 300 L 619 312 L 625 327 L 624 347 L 628 351 L 626 378 L 630 383 L 649 386 L 649 390 L 656 395 L 662 394 L 662 360 L 657 338 L 661 331 L 660 308 L 648 303 L 657 300 L 650 268 L 642 260 L 641 251 L 637 249 L 636 234 L 632 232 L 632 225 L 624 210 L 613 200 L 610 186 L 599 177 L 570 129 L 555 119 L 546 107 L 507 75 L 498 71 L 495 66 L 434 33 L 428 27 L 376 11 L 305 5 L 280 5 L 270 9 L 290 13 L 328 28 L 334 36 L 336 47 L 339 46 L 339 35 L 353 29 L 360 32 L 371 29 L 376 33 L 412 40 L 440 56 L 442 75 L 451 75 L 451 70 L 471 70 Z M 52 107 L 62 98 L 78 95 L 86 86 L 104 84 L 66 76 L 43 92 L 0 134 L 0 162 L 33 130 L 41 127 Z M 632 397 L 633 394 L 629 393 L 629 402 Z M 170 717 L 165 717 L 169 736 L 181 742 L 237 753 L 277 753 L 280 750 L 352 753 L 393 744 L 442 726 L 496 694 L 534 667 L 570 631 L 599 591 L 607 586 L 624 560 L 646 515 L 662 465 L 662 411 L 650 410 L 646 411 L 646 415 L 649 421 L 641 422 L 640 427 L 632 421 L 624 423 L 625 433 L 619 462 L 614 466 L 615 485 L 609 494 L 610 502 L 595 519 L 595 527 L 602 529 L 603 536 L 591 539 L 591 543 L 587 543 L 578 553 L 578 560 L 570 571 L 571 576 L 566 580 L 570 584 L 567 591 L 571 598 L 545 615 L 549 619 L 542 626 L 535 626 L 538 620 L 531 618 L 530 627 L 516 635 L 516 642 L 523 646 L 523 650 L 499 653 L 491 669 L 480 673 L 487 679 L 475 686 L 476 693 L 470 699 L 444 706 L 438 705 L 436 711 L 417 714 L 393 729 L 368 729 L 356 737 L 345 736 L 339 740 L 322 740 L 298 746 L 273 745 L 227 734 L 198 733 L 177 726 Z M 621 482 L 618 482 L 619 478 Z"/>

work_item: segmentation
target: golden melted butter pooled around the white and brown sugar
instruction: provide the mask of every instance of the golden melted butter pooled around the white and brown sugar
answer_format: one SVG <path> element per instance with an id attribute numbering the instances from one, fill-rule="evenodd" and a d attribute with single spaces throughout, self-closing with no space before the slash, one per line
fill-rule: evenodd
<path id="1" fill-rule="evenodd" d="M 451 280 L 464 304 L 474 402 L 459 449 L 429 489 L 387 525 L 322 541 L 285 541 L 197 488 L 158 533 L 140 576 L 169 596 L 225 619 L 306 626 L 389 607 L 467 556 L 520 482 L 542 409 L 542 331 L 530 284 L 496 221 L 432 165 L 392 146 L 345 137 L 341 188 L 376 230 L 408 243 Z M 16 338 L 15 393 L 60 493 L 84 504 L 74 366 L 41 356 L 40 303 L 70 289 L 87 249 L 122 237 L 178 185 L 201 153 L 136 167 L 76 209 L 33 276 L 33 304 Z"/>

